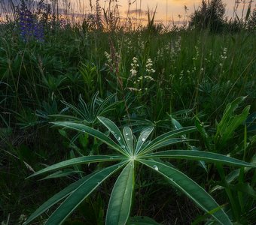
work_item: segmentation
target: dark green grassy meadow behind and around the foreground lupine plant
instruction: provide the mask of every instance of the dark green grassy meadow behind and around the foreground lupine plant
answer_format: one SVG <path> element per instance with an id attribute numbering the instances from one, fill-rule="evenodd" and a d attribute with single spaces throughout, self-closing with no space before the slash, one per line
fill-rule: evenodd
<path id="1" fill-rule="evenodd" d="M 248 133 L 240 124 L 225 153 L 251 160 L 255 143 L 253 113 L 256 110 L 254 33 L 244 30 L 236 34 L 210 34 L 184 28 L 162 32 L 154 25 L 152 17 L 149 17 L 148 28 L 121 28 L 117 23 L 118 13 L 114 11 L 116 5 L 112 1 L 111 4 L 103 11 L 105 19 L 98 17 L 98 25 L 89 17 L 84 17 L 81 25 L 59 23 L 57 18 L 56 23 L 50 21 L 44 27 L 44 42 L 35 38 L 24 41 L 17 21 L 0 24 L 0 165 L 4 171 L 0 181 L 3 190 L 0 220 L 18 223 L 21 215 L 29 215 L 44 202 L 44 194 L 50 196 L 51 191 L 56 192 L 77 178 L 69 175 L 68 179 L 43 181 L 39 186 L 35 181 L 24 181 L 30 172 L 41 169 L 42 164 L 105 149 L 88 136 L 76 136 L 48 125 L 49 121 L 68 118 L 68 115 L 77 118 L 70 106 L 78 106 L 81 99 L 92 106 L 93 96 L 98 91 L 96 104 L 116 93 L 108 102 L 115 105 L 106 115 L 108 118 L 120 126 L 129 124 L 134 132 L 153 125 L 156 128 L 153 136 L 170 130 L 172 118 L 184 126 L 204 121 L 209 125 L 207 135 L 214 136 L 218 129 L 215 122 L 221 121 L 227 104 L 247 96 L 237 110 L 241 113 L 245 106 L 251 105 L 248 120 L 242 124 L 248 126 Z M 69 103 L 69 107 L 63 102 Z M 200 133 L 194 138 L 201 140 L 198 148 L 214 149 L 209 147 L 215 144 L 212 139 L 206 141 L 206 136 Z M 245 157 L 237 149 L 246 149 Z M 214 179 L 224 182 L 224 176 L 230 172 L 227 169 L 223 175 L 221 168 L 215 171 L 209 166 L 205 174 L 192 163 L 178 162 L 175 165 L 187 169 L 188 175 L 195 175 L 197 182 L 209 190 L 215 184 Z M 94 167 L 89 166 L 84 171 L 92 169 Z M 166 199 L 166 202 L 156 204 L 157 208 L 153 210 L 150 199 L 154 199 L 155 190 L 148 184 L 154 180 L 148 171 L 142 175 L 148 177 L 148 181 L 141 182 L 138 178 L 138 193 L 147 196 L 145 199 L 136 196 L 138 206 L 133 214 L 146 214 L 163 223 L 175 223 L 177 217 L 184 216 L 179 211 L 182 208 L 193 218 L 200 214 L 181 206 L 187 202 L 185 198 L 181 202 Z M 251 178 L 249 187 L 253 187 L 254 177 L 251 170 L 245 175 L 241 172 L 238 182 L 250 183 Z M 108 185 L 104 188 L 108 189 Z M 233 198 L 230 194 L 233 190 L 228 187 L 230 189 L 225 187 L 228 194 L 224 191 L 216 194 L 217 197 L 225 196 L 223 199 L 219 197 L 221 203 Z M 157 188 L 164 190 L 163 193 L 180 195 L 176 190 L 167 190 L 163 181 Z M 35 202 L 37 198 L 38 202 Z M 84 202 L 81 211 L 83 207 L 94 212 L 103 210 L 106 199 L 108 196 L 104 193 L 100 197 L 92 196 Z M 175 216 L 166 219 L 161 208 L 165 212 L 175 211 Z M 251 221 L 251 208 L 241 208 L 242 215 L 248 215 L 248 221 Z M 79 212 L 74 217 L 79 218 Z M 96 218 L 90 214 L 85 217 L 95 223 Z M 103 220 L 104 215 L 99 217 Z M 192 220 L 187 217 L 180 223 Z"/>

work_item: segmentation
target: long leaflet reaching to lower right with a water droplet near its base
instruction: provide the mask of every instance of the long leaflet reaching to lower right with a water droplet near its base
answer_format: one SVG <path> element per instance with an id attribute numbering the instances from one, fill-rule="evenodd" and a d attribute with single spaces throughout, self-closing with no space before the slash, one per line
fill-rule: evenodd
<path id="1" fill-rule="evenodd" d="M 178 169 L 154 160 L 139 161 L 167 178 L 173 186 L 183 191 L 190 199 L 192 199 L 207 213 L 215 208 L 220 207 L 218 203 L 215 202 L 215 199 L 213 199 L 212 196 L 206 192 L 206 190 L 204 190 L 202 187 L 200 187 L 200 185 L 187 177 L 187 175 L 184 175 L 183 172 L 178 171 Z M 227 217 L 227 214 L 225 214 L 222 208 L 212 213 L 212 217 L 215 217 L 215 220 L 223 225 L 232 225 L 229 217 Z"/>

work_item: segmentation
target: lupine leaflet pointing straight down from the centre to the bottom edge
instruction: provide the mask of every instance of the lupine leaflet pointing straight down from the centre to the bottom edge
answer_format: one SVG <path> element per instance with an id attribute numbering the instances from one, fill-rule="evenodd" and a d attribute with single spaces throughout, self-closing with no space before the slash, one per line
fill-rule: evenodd
<path id="1" fill-rule="evenodd" d="M 129 218 L 134 189 L 134 161 L 123 169 L 114 184 L 108 203 L 107 225 L 123 225 Z"/>

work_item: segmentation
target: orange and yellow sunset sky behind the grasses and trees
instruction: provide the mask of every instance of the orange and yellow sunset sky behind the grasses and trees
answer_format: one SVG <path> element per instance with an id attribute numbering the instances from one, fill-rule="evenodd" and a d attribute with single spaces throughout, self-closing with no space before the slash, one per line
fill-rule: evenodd
<path id="1" fill-rule="evenodd" d="M 19 2 L 20 0 L 13 0 L 14 2 Z M 33 0 L 28 0 L 33 1 Z M 36 0 L 35 0 L 36 1 Z M 54 1 L 54 0 L 44 0 L 44 1 Z M 70 6 L 72 8 L 73 13 L 88 13 L 90 11 L 90 0 L 56 0 L 59 1 L 59 4 L 62 2 L 70 2 Z M 99 0 L 99 3 L 102 7 L 104 5 L 108 5 L 109 0 Z M 163 22 L 169 23 L 170 21 L 174 20 L 176 23 L 180 21 L 182 23 L 184 20 L 190 16 L 191 13 L 197 9 L 202 0 L 112 0 L 117 1 L 119 5 L 119 11 L 121 17 L 126 17 L 126 13 L 128 10 L 128 3 L 130 2 L 130 17 L 139 19 L 139 13 L 136 13 L 140 9 L 141 5 L 141 17 L 142 20 L 147 20 L 145 12 L 148 10 L 154 10 L 157 6 L 157 13 L 155 17 L 155 22 Z M 223 0 L 224 4 L 226 5 L 226 16 L 232 17 L 233 16 L 233 7 L 235 5 L 235 1 L 241 0 Z M 243 0 L 242 0 L 243 1 Z M 250 1 L 250 0 L 245 0 Z M 5 2 L 7 5 L 10 0 L 0 0 L 0 3 Z M 92 4 L 95 5 L 96 0 L 92 0 Z M 69 4 L 66 4 L 69 5 Z M 187 15 L 184 11 L 184 6 L 187 7 Z M 245 5 L 245 13 L 247 10 L 248 5 Z M 252 7 L 255 7 L 255 2 L 253 3 Z M 239 17 L 242 15 L 242 4 L 239 5 L 237 14 Z M 179 16 L 180 15 L 180 16 Z M 180 18 L 179 18 L 180 17 Z"/>

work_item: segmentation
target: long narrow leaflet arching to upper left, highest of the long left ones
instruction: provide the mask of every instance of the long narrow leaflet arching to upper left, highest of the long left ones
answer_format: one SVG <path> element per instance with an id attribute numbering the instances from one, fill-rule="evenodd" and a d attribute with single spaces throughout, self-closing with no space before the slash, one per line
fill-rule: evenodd
<path id="1" fill-rule="evenodd" d="M 88 133 L 91 136 L 95 136 L 97 139 L 101 140 L 102 142 L 105 142 L 105 144 L 107 144 L 109 147 L 113 148 L 114 150 L 117 150 L 122 154 L 126 154 L 127 156 L 129 155 L 126 153 L 126 151 L 120 148 L 120 146 L 117 145 L 116 142 L 114 142 L 110 137 L 106 136 L 104 133 L 100 132 L 99 130 L 95 130 L 84 124 L 77 124 L 69 121 L 56 121 L 56 122 L 53 122 L 52 124 L 56 124 L 62 127 L 72 128 L 73 130 L 78 130 L 83 133 Z"/>

